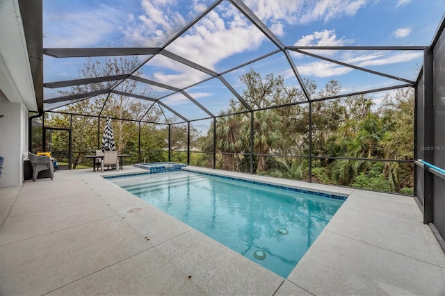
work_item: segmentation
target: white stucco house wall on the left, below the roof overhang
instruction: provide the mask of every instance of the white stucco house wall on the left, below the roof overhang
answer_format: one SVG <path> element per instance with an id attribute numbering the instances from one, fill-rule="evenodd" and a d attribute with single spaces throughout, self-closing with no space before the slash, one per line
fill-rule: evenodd
<path id="1" fill-rule="evenodd" d="M 0 156 L 5 158 L 0 187 L 19 186 L 24 180 L 23 161 L 28 151 L 28 111 L 0 92 Z"/>

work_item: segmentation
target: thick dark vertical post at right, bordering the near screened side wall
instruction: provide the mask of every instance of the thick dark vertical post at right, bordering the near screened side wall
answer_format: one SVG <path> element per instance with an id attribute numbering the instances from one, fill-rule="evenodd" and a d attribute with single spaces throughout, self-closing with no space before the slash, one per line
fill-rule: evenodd
<path id="1" fill-rule="evenodd" d="M 423 108 L 423 134 L 425 142 L 423 147 L 435 147 L 434 142 L 434 94 L 433 94 L 433 56 L 429 49 L 423 51 L 423 94 L 425 105 Z M 423 151 L 423 161 L 434 163 L 434 149 L 425 149 Z M 423 168 L 423 223 L 432 223 L 434 195 L 434 176 L 428 172 L 426 165 Z"/>

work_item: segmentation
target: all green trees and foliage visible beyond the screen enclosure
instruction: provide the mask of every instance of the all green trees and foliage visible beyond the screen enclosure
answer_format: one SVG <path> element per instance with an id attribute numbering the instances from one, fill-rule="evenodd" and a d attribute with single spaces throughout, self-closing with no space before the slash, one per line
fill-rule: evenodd
<path id="1" fill-rule="evenodd" d="M 81 77 L 88 77 L 91 73 L 95 76 L 117 75 L 121 72 L 120 68 L 133 67 L 134 63 L 136 60 L 114 58 L 99 65 L 96 61 L 88 60 Z M 134 75 L 141 74 L 136 72 Z M 245 84 L 243 101 L 253 111 L 245 113 L 248 108 L 243 102 L 230 99 L 229 108 L 216 118 L 216 142 L 213 142 L 213 122 L 207 135 L 200 135 L 191 126 L 191 165 L 213 167 L 213 151 L 216 151 L 216 167 L 223 170 L 250 172 L 252 160 L 255 174 L 307 181 L 307 156 L 311 142 L 312 156 L 317 156 L 312 158 L 312 181 L 411 194 L 414 186 L 412 163 L 381 163 L 372 160 L 413 158 L 412 89 L 388 92 L 381 101 L 361 94 L 316 101 L 309 106 L 309 103 L 305 103 L 307 99 L 302 90 L 285 85 L 280 75 L 261 76 L 250 69 L 240 79 Z M 338 96 L 341 93 L 341 85 L 337 81 L 328 81 L 323 88 L 318 88 L 314 81 L 304 80 L 312 98 Z M 92 83 L 82 86 L 85 88 L 83 90 L 76 86 L 72 91 L 89 92 L 105 86 Z M 132 92 L 136 85 L 129 83 L 121 87 Z M 140 91 L 145 94 L 152 92 L 149 88 Z M 105 100 L 109 104 L 104 105 Z M 281 105 L 286 106 L 270 108 Z M 108 99 L 99 96 L 79 101 L 70 105 L 67 111 L 94 115 L 103 108 L 102 116 L 128 119 L 143 117 L 149 122 L 175 122 L 165 118 L 161 107 L 150 106 L 151 102 L 113 94 Z M 312 120 L 310 126 L 309 117 Z M 97 129 L 103 128 L 103 117 L 98 119 L 52 114 L 45 115 L 44 122 L 46 126 L 72 128 L 73 150 L 76 152 L 74 163 L 80 163 L 83 154 L 97 149 L 97 143 L 102 138 L 102 133 L 97 138 Z M 139 149 L 140 161 L 143 158 L 149 162 L 168 160 L 168 124 L 141 123 L 139 133 L 137 120 L 113 120 L 113 129 L 119 149 L 131 152 L 134 155 L 132 160 L 136 155 L 139 157 L 135 153 Z M 170 124 L 172 161 L 187 161 L 184 152 L 189 146 L 187 129 L 187 124 Z M 33 146 L 37 147 L 40 140 L 33 138 Z M 52 145 L 54 148 L 63 147 L 66 141 L 63 133 L 55 133 Z"/>

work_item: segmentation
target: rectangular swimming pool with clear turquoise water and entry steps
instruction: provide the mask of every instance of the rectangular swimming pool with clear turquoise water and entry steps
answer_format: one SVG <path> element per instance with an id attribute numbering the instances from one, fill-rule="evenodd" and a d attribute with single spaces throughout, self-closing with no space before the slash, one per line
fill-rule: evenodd
<path id="1" fill-rule="evenodd" d="M 284 278 L 346 199 L 186 171 L 109 181 Z"/>

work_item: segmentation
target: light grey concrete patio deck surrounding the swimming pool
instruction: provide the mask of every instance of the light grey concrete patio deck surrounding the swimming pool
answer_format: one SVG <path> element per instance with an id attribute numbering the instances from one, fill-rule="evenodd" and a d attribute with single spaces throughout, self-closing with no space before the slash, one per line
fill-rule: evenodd
<path id="1" fill-rule="evenodd" d="M 445 295 L 412 197 L 218 172 L 349 197 L 283 279 L 102 178 L 116 172 L 57 171 L 0 188 L 0 295 Z"/>

